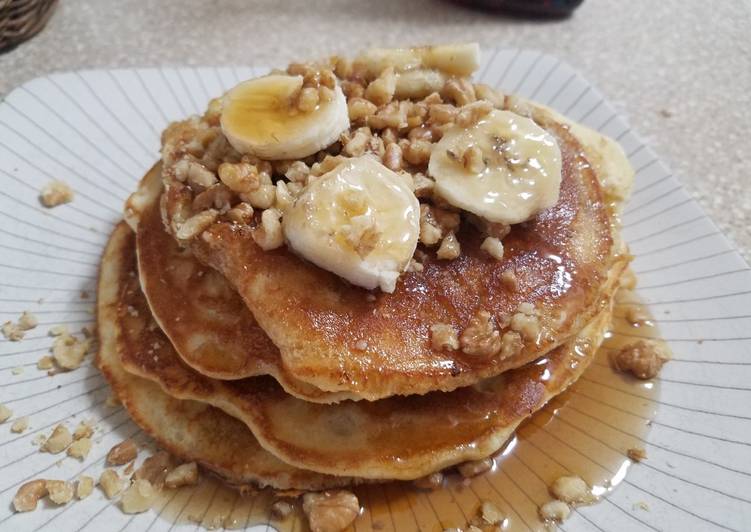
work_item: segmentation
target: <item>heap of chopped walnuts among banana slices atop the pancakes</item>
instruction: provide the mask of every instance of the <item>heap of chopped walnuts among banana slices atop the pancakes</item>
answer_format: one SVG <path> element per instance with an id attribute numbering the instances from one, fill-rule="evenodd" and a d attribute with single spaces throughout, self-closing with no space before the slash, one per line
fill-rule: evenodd
<path id="1" fill-rule="evenodd" d="M 292 114 L 310 112 L 330 101 L 338 85 L 346 98 L 349 128 L 337 142 L 313 155 L 267 161 L 243 155 L 229 143 L 220 126 L 221 98 L 212 100 L 202 116 L 170 124 L 162 135 L 162 173 L 167 186 L 179 191 L 178 205 L 168 213 L 168 227 L 177 238 L 186 243 L 212 224 L 228 222 L 250 226 L 262 249 L 277 249 L 284 245 L 284 213 L 302 188 L 347 157 L 370 154 L 403 175 L 420 201 L 420 242 L 435 246 L 441 260 L 459 258 L 459 229 L 468 214 L 450 211 L 455 221 L 448 224 L 439 219 L 435 211 L 444 205 L 433 195 L 434 181 L 426 175 L 428 162 L 444 131 L 455 124 L 470 127 L 502 108 L 503 94 L 427 67 L 402 72 L 398 65 L 384 63 L 376 68 L 341 57 L 293 63 L 286 73 L 303 78 L 290 103 Z M 486 166 L 478 146 L 457 158 L 474 173 Z M 502 238 L 480 231 L 483 236 Z M 365 242 L 361 256 L 372 245 Z M 410 271 L 418 270 L 416 264 L 410 266 Z"/>

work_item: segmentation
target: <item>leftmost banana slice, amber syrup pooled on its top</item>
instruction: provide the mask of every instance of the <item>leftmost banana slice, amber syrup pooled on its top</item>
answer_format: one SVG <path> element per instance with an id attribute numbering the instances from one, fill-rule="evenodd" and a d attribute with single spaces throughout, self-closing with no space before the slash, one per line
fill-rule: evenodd
<path id="1" fill-rule="evenodd" d="M 232 88 L 221 116 L 230 144 L 241 153 L 278 160 L 302 159 L 336 142 L 349 128 L 341 88 L 337 85 L 329 101 L 318 101 L 306 112 L 295 105 L 302 86 L 302 76 L 274 74 Z"/>

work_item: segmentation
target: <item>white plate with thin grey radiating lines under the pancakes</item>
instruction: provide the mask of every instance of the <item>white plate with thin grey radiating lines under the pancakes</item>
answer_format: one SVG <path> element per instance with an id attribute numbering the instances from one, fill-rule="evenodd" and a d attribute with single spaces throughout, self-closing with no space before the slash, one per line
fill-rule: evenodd
<path id="1" fill-rule="evenodd" d="M 79 330 L 93 321 L 100 252 L 123 200 L 158 157 L 167 122 L 200 112 L 210 96 L 263 71 L 62 73 L 30 81 L 0 104 L 0 321 L 24 310 L 40 318 L 22 342 L 0 340 L 0 403 L 30 419 L 20 435 L 10 432 L 10 422 L 0 425 L 0 529 L 138 530 L 154 523 L 123 515 L 98 492 L 63 508 L 12 513 L 12 497 L 27 479 L 96 477 L 111 445 L 129 435 L 144 438 L 121 408 L 104 406 L 108 388 L 90 360 L 52 378 L 36 361 L 50 347 L 50 326 Z M 623 117 L 570 66 L 533 51 L 490 50 L 479 78 L 621 142 L 636 169 L 624 232 L 636 255 L 639 292 L 675 355 L 659 377 L 648 460 L 631 468 L 606 503 L 579 509 L 563 528 L 751 529 L 748 266 Z M 38 191 L 51 179 L 69 183 L 75 201 L 40 207 Z M 82 299 L 82 291 L 90 298 Z M 83 463 L 58 464 L 60 455 L 40 453 L 31 442 L 73 416 L 99 420 L 101 442 Z M 635 506 L 640 502 L 649 510 Z"/>

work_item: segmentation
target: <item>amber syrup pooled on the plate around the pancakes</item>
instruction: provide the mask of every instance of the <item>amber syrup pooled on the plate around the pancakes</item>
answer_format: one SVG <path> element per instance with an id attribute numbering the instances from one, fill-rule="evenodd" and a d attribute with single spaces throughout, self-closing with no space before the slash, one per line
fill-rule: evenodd
<path id="1" fill-rule="evenodd" d="M 632 316 L 646 319 L 631 323 Z M 643 449 L 655 415 L 659 386 L 611 368 L 611 354 L 638 338 L 659 341 L 654 319 L 631 291 L 616 296 L 613 323 L 595 359 L 567 391 L 526 420 L 493 458 L 493 468 L 472 479 L 446 475 L 434 490 L 409 482 L 360 486 L 362 509 L 350 527 L 355 532 L 466 530 L 482 502 L 492 502 L 505 516 L 502 530 L 546 530 L 539 508 L 551 500 L 557 478 L 575 475 L 598 497 L 623 482 L 632 460 L 629 449 Z M 299 503 L 283 520 L 271 518 L 277 496 L 271 490 L 243 495 L 206 477 L 194 488 L 163 492 L 154 505 L 158 518 L 207 529 L 245 529 L 253 525 L 280 531 L 307 530 Z"/>

